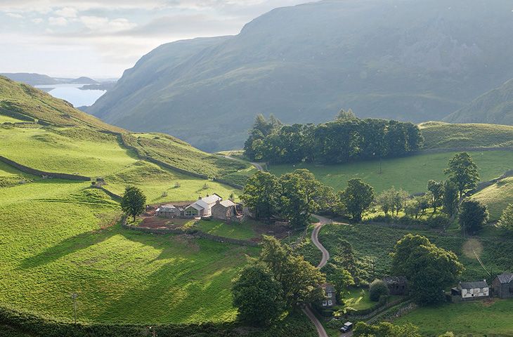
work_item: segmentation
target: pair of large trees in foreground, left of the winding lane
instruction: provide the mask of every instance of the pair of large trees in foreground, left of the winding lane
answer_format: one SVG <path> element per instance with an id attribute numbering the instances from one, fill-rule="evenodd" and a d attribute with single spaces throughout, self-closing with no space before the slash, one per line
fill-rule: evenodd
<path id="1" fill-rule="evenodd" d="M 322 300 L 325 275 L 274 237 L 264 237 L 259 258 L 233 282 L 233 305 L 241 321 L 273 322 L 286 310 Z"/>

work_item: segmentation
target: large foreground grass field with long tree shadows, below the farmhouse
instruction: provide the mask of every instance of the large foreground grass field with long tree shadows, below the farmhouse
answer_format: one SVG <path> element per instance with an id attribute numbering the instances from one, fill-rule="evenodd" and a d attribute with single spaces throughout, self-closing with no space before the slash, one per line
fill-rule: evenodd
<path id="1" fill-rule="evenodd" d="M 84 322 L 235 318 L 230 280 L 257 249 L 110 226 L 117 204 L 88 185 L 0 188 L 0 303 L 70 319 L 77 292 Z"/>

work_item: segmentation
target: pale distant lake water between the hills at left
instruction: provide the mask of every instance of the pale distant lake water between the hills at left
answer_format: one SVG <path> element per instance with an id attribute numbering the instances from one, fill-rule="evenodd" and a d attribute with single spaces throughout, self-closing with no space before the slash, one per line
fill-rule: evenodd
<path id="1" fill-rule="evenodd" d="M 56 98 L 67 100 L 74 107 L 89 106 L 105 93 L 105 90 L 80 90 L 84 84 L 48 84 L 36 86 Z M 50 91 L 48 89 L 51 88 Z"/>

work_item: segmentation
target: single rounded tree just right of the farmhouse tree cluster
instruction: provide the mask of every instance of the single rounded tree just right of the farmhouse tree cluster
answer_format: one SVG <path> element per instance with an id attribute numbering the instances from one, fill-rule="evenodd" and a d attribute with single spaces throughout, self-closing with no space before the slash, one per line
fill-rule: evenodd
<path id="1" fill-rule="evenodd" d="M 344 191 L 339 192 L 339 201 L 355 221 L 362 220 L 362 213 L 374 201 L 374 188 L 356 178 L 347 182 Z"/>

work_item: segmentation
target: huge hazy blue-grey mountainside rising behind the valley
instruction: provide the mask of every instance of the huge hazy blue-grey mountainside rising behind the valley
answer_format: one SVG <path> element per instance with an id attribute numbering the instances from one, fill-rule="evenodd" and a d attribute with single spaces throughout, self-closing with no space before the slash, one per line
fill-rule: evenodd
<path id="1" fill-rule="evenodd" d="M 278 8 L 235 37 L 178 41 L 126 70 L 88 111 L 204 150 L 241 147 L 255 114 L 285 123 L 440 120 L 513 77 L 513 5 L 320 1 Z"/>

